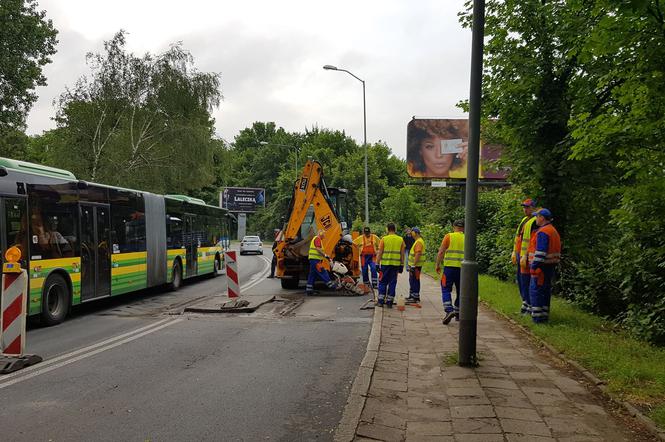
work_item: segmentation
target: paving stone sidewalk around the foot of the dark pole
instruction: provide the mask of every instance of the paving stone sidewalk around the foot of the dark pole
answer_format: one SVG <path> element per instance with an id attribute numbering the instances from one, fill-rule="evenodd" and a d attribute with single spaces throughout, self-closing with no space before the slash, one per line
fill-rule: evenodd
<path id="1" fill-rule="evenodd" d="M 408 293 L 401 275 L 398 292 Z M 457 366 L 458 326 L 441 323 L 438 281 L 422 278 L 422 308 L 384 309 L 357 441 L 630 441 L 589 391 L 523 335 L 481 307 L 480 366 Z"/>

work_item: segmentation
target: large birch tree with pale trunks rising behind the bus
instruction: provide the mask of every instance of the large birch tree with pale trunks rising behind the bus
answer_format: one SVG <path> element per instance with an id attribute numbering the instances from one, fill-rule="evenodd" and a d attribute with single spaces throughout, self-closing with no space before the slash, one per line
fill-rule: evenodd
<path id="1" fill-rule="evenodd" d="M 88 54 L 92 73 L 58 103 L 61 129 L 49 161 L 83 179 L 156 192 L 183 192 L 213 180 L 219 75 L 198 72 L 180 45 L 137 57 L 125 33 Z"/>

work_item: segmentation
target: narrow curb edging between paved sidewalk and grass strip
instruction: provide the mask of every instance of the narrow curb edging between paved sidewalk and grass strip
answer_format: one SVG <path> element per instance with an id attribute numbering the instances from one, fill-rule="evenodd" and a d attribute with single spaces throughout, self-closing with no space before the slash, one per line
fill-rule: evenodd
<path id="1" fill-rule="evenodd" d="M 544 347 L 552 356 L 555 358 L 559 359 L 566 365 L 569 365 L 573 367 L 575 370 L 577 370 L 582 376 L 584 376 L 589 382 L 591 382 L 593 385 L 598 387 L 598 389 L 603 393 L 606 399 L 610 400 L 611 402 L 623 407 L 623 409 L 632 417 L 635 419 L 639 420 L 650 432 L 652 432 L 658 439 L 661 441 L 665 441 L 665 430 L 662 430 L 659 428 L 656 423 L 651 420 L 649 417 L 647 417 L 644 413 L 642 413 L 640 410 L 635 408 L 634 405 L 632 405 L 629 402 L 626 402 L 624 400 L 618 399 L 614 397 L 609 389 L 607 388 L 607 382 L 599 379 L 596 375 L 591 373 L 587 368 L 585 368 L 583 365 L 578 363 L 577 361 L 574 361 L 573 359 L 570 359 L 565 355 L 564 352 L 554 348 L 544 340 L 542 340 L 540 337 L 536 336 L 531 330 L 528 328 L 524 327 L 522 324 L 518 323 L 515 321 L 513 318 L 510 316 L 506 315 L 505 313 L 499 312 L 494 310 L 492 307 L 490 307 L 486 302 L 480 301 L 480 303 L 490 310 L 491 312 L 495 313 L 496 315 L 502 317 L 506 321 L 508 321 L 510 324 L 518 328 L 522 333 L 527 335 L 531 340 L 535 341 L 538 345 Z"/>

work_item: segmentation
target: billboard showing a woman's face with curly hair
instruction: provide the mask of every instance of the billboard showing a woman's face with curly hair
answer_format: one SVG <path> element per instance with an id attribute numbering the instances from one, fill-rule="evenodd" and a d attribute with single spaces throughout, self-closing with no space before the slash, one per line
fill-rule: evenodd
<path id="1" fill-rule="evenodd" d="M 417 119 L 406 129 L 406 163 L 414 178 L 466 178 L 469 120 Z M 506 179 L 506 170 L 495 164 L 502 146 L 484 144 L 480 148 L 480 178 Z"/>

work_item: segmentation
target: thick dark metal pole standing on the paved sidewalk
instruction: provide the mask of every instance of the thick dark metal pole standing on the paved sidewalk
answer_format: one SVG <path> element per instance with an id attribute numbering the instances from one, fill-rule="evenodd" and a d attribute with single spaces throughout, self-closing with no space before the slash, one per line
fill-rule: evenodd
<path id="1" fill-rule="evenodd" d="M 473 1 L 471 41 L 471 87 L 469 93 L 469 153 L 466 178 L 464 260 L 462 261 L 459 365 L 475 366 L 478 328 L 478 263 L 476 221 L 478 219 L 478 164 L 480 157 L 480 100 L 483 77 L 483 35 L 485 0 Z"/>

